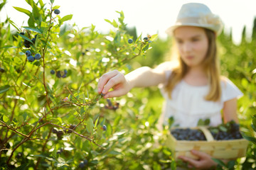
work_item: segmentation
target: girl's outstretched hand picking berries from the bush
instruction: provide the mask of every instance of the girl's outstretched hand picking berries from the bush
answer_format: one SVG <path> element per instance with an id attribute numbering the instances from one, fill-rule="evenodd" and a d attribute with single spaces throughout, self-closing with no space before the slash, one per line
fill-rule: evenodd
<path id="1" fill-rule="evenodd" d="M 97 87 L 99 94 L 105 94 L 104 98 L 123 96 L 132 89 L 129 80 L 117 70 L 103 74 L 99 79 Z M 113 89 L 112 91 L 110 91 L 111 88 Z"/>

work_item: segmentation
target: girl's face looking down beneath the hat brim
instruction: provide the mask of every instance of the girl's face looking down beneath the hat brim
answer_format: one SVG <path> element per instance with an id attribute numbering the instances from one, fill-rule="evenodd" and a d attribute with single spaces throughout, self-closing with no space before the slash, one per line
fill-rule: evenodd
<path id="1" fill-rule="evenodd" d="M 208 51 L 208 38 L 204 28 L 181 26 L 174 30 L 178 52 L 188 67 L 200 67 Z"/>

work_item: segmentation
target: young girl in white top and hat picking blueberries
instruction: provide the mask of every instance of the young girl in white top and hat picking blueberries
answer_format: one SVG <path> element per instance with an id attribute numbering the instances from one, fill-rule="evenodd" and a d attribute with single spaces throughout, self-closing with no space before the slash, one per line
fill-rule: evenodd
<path id="1" fill-rule="evenodd" d="M 99 94 L 112 98 L 127 94 L 134 87 L 161 84 L 166 99 L 160 123 L 174 117 L 175 125 L 195 127 L 198 120 L 210 119 L 215 126 L 235 120 L 237 98 L 242 92 L 228 79 L 220 76 L 216 37 L 222 23 L 204 4 L 189 3 L 181 7 L 176 23 L 166 33 L 173 36 L 178 49 L 178 64 L 164 62 L 155 69 L 141 67 L 125 75 L 114 70 L 103 74 L 98 82 Z M 113 89 L 110 91 L 110 89 Z M 191 151 L 198 160 L 179 157 L 189 167 L 209 169 L 215 162 L 208 154 Z"/>

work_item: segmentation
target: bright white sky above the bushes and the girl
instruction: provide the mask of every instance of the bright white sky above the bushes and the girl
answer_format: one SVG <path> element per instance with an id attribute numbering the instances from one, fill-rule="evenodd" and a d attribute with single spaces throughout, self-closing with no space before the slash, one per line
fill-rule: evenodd
<path id="1" fill-rule="evenodd" d="M 27 26 L 28 16 L 13 8 L 18 6 L 31 10 L 25 0 L 7 0 L 8 4 L 0 12 L 1 21 L 9 16 L 18 26 Z M 37 0 L 36 0 L 37 1 Z M 50 0 L 43 0 L 44 3 Z M 107 33 L 112 29 L 104 19 L 117 20 L 119 14 L 115 11 L 124 11 L 124 22 L 128 27 L 135 26 L 137 34 L 159 34 L 166 38 L 166 28 L 174 23 L 182 4 L 200 2 L 206 4 L 213 13 L 220 16 L 225 32 L 233 30 L 235 42 L 240 42 L 242 28 L 247 27 L 250 36 L 253 19 L 256 16 L 256 0 L 55 0 L 54 6 L 60 6 L 60 16 L 73 14 L 70 23 L 76 23 L 79 28 L 96 26 L 96 30 Z"/>

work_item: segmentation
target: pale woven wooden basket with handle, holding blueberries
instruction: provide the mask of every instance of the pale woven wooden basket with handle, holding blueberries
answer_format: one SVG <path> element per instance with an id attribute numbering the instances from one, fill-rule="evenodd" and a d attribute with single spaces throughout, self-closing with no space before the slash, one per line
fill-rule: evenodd
<path id="1" fill-rule="evenodd" d="M 169 132 L 166 146 L 174 152 L 174 157 L 178 156 L 191 157 L 198 159 L 191 154 L 191 150 L 198 150 L 210 154 L 216 159 L 237 159 L 238 157 L 245 157 L 248 141 L 245 139 L 238 140 L 214 140 L 213 135 L 206 127 L 198 127 L 206 136 L 207 141 L 191 141 L 191 140 L 176 140 L 176 138 Z"/>

